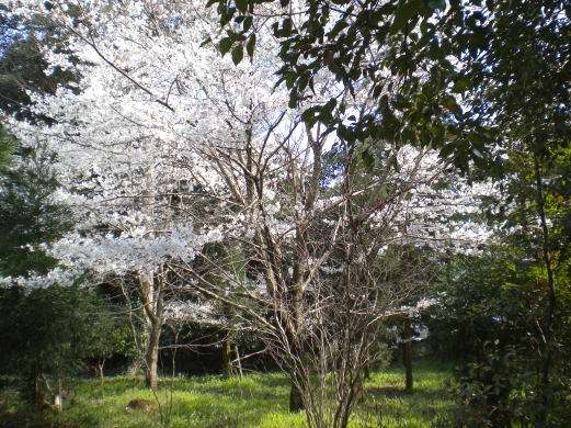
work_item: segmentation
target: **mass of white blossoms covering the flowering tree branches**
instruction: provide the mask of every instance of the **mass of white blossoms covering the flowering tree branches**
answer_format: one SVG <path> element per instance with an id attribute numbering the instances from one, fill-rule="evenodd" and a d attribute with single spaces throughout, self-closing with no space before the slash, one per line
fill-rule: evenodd
<path id="1" fill-rule="evenodd" d="M 315 218 L 323 229 L 339 219 L 353 227 L 346 212 L 327 215 L 345 196 L 322 192 L 307 209 L 308 133 L 316 132 L 304 131 L 299 112 L 287 108 L 287 91 L 274 88 L 276 42 L 263 29 L 253 60 L 236 67 L 230 55 L 201 47 L 219 31 L 218 16 L 201 2 L 55 0 L 49 10 L 36 0 L 2 3 L 14 14 L 48 14 L 68 29 L 68 48 L 79 60 L 46 50 L 46 74 L 73 70 L 80 83 L 55 95 L 31 93 L 35 111 L 54 125 L 13 123 L 24 144 L 39 137 L 58 154 L 54 199 L 79 218 L 77 230 L 50 248 L 67 271 L 98 280 L 153 272 L 172 259 L 191 263 L 205 246 L 225 239 L 260 248 L 263 236 L 265 246 L 285 246 L 296 225 Z M 71 9 L 80 19 L 67 13 Z M 308 102 L 336 92 L 339 85 L 323 72 Z M 490 239 L 478 205 L 493 185 L 447 174 L 434 151 L 404 146 L 395 155 L 400 169 L 388 169 L 386 193 L 364 218 L 382 229 L 387 245 L 467 251 Z M 306 268 L 324 274 L 343 269 L 320 263 Z M 263 279 L 256 284 L 260 293 L 270 286 Z M 173 303 L 167 311 L 183 317 L 191 308 Z"/>

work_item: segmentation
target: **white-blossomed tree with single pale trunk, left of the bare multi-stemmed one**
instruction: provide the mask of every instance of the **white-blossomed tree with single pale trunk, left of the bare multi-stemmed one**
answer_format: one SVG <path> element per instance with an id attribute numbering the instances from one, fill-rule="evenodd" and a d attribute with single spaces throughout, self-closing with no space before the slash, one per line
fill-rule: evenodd
<path id="1" fill-rule="evenodd" d="M 189 195 L 196 190 L 194 176 L 212 176 L 187 142 L 204 139 L 206 133 L 224 134 L 219 122 L 210 127 L 198 121 L 216 116 L 206 101 L 210 85 L 203 80 L 217 54 L 199 48 L 209 22 L 196 11 L 181 10 L 181 23 L 169 23 L 175 11 L 153 8 L 161 7 L 132 2 L 85 9 L 81 2 L 20 2 L 13 8 L 24 16 L 49 14 L 68 31 L 69 49 L 82 63 L 73 65 L 66 56 L 46 52 L 52 69 L 71 68 L 83 79 L 78 88 L 60 88 L 54 97 L 32 94 L 35 110 L 56 124 L 19 125 L 19 133 L 28 140 L 41 135 L 57 148 L 57 198 L 72 205 L 81 221 L 75 235 L 55 246 L 54 256 L 68 272 L 87 270 L 99 280 L 136 278 L 132 283 L 149 326 L 150 387 L 156 387 L 168 286 L 161 264 L 170 257 L 191 260 L 204 244 L 221 238 L 216 225 L 187 215 L 193 211 Z"/>

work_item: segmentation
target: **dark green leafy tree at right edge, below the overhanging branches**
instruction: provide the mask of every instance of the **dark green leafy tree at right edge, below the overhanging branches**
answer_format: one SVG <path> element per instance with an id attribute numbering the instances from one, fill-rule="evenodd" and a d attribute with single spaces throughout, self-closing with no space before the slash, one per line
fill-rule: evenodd
<path id="1" fill-rule="evenodd" d="M 518 134 L 506 136 L 514 137 Z M 569 204 L 559 191 L 569 180 L 569 149 L 551 140 L 547 155 L 537 155 L 518 139 L 512 144 L 500 181 L 503 192 L 486 204 L 489 221 L 501 225 L 502 245 L 489 255 L 453 262 L 448 286 L 438 297 L 442 311 L 426 320 L 435 328 L 432 340 L 453 338 L 444 352 L 464 357 L 469 390 L 480 387 L 478 417 L 492 415 L 499 427 L 518 418 L 545 425 L 567 417 L 560 398 L 567 387 L 560 380 L 568 373 L 563 361 L 569 352 Z M 553 314 L 559 315 L 549 322 Z M 492 408 L 496 412 L 490 414 Z M 549 408 L 558 410 L 548 417 Z"/>

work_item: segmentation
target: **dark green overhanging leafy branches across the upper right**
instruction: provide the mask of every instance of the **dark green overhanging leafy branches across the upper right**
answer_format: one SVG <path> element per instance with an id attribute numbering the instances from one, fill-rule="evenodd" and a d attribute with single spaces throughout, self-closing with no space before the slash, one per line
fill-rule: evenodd
<path id="1" fill-rule="evenodd" d="M 350 145 L 372 137 L 430 146 L 467 170 L 470 161 L 484 169 L 501 165 L 493 148 L 501 145 L 504 122 L 541 117 L 537 136 L 569 138 L 564 2 L 208 4 L 217 4 L 219 23 L 227 29 L 219 43 L 222 54 L 232 49 L 235 56 L 245 44 L 253 55 L 256 31 L 270 22 L 279 41 L 276 54 L 284 65 L 277 75 L 289 90 L 290 108 L 300 100 L 311 103 L 316 79 L 331 72 L 339 91 L 306 108 L 302 117 L 309 125 L 323 123 Z M 369 105 L 356 94 L 363 86 L 375 100 Z"/>

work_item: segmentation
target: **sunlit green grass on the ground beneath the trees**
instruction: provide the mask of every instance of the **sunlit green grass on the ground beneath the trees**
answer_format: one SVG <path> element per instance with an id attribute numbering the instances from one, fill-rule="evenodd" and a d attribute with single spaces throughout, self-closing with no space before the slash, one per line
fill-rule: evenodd
<path id="1" fill-rule="evenodd" d="M 450 372 L 429 364 L 414 368 L 415 391 L 406 395 L 404 371 L 392 368 L 372 373 L 364 382 L 365 403 L 354 412 L 350 427 L 427 427 L 452 403 L 445 396 Z M 72 380 L 65 385 L 64 412 L 46 409 L 36 415 L 22 403 L 10 384 L 0 391 L 0 427 L 169 427 L 225 428 L 305 427 L 304 414 L 289 414 L 287 376 L 252 374 L 241 381 L 218 376 L 164 379 L 157 397 L 141 380 L 110 378 Z M 172 386 L 172 398 L 171 398 Z M 158 398 L 158 399 L 157 399 Z M 126 409 L 139 399 L 147 406 Z"/>

